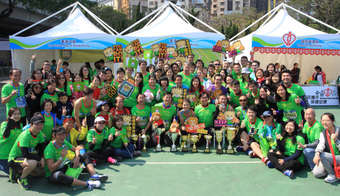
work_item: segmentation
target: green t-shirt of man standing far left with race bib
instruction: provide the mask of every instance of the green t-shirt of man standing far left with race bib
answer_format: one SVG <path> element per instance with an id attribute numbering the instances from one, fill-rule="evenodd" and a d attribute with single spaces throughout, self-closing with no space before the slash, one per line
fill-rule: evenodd
<path id="1" fill-rule="evenodd" d="M 18 89 L 19 88 L 19 89 Z M 16 90 L 19 90 L 19 97 L 25 97 L 25 87 L 23 84 L 19 83 L 18 86 L 15 87 Z M 8 97 L 13 90 L 15 90 L 14 87 L 12 86 L 11 83 L 5 84 L 3 86 L 3 89 L 1 91 L 1 97 Z M 9 109 L 11 109 L 12 107 L 18 107 L 18 105 L 16 104 L 15 99 L 17 99 L 18 96 L 14 95 L 11 97 L 11 99 L 9 100 L 9 102 L 6 104 L 6 116 L 8 114 Z M 18 102 L 20 104 L 20 102 Z M 25 106 L 21 106 L 20 108 L 21 111 L 21 116 L 24 117 L 26 116 L 26 110 L 25 110 Z"/>

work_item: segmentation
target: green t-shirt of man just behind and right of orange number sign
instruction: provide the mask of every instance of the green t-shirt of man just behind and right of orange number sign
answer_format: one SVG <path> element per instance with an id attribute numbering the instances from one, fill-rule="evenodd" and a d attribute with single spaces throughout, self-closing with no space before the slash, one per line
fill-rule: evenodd
<path id="1" fill-rule="evenodd" d="M 215 105 L 208 104 L 207 106 L 198 105 L 195 107 L 195 114 L 198 118 L 198 123 L 204 123 L 206 127 L 214 125 Z"/>

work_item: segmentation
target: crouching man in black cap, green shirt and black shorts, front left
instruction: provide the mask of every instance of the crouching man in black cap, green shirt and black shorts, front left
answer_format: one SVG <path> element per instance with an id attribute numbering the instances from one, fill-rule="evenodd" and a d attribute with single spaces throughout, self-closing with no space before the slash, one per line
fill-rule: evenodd
<path id="1" fill-rule="evenodd" d="M 27 182 L 27 175 L 33 177 L 45 175 L 43 170 L 46 164 L 43 159 L 44 135 L 41 132 L 45 121 L 42 116 L 36 115 L 31 118 L 30 122 L 31 128 L 18 136 L 8 157 L 9 179 L 12 182 L 17 181 L 22 189 L 31 188 L 31 185 Z M 30 148 L 35 148 L 38 154 L 30 153 Z"/>

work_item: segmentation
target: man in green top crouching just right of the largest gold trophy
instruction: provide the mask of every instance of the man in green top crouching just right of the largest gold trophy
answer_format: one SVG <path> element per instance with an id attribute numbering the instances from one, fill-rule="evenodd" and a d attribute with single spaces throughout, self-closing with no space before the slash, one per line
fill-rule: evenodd
<path id="1" fill-rule="evenodd" d="M 247 116 L 244 121 L 241 123 L 241 127 L 237 134 L 241 138 L 241 142 L 243 146 L 237 146 L 236 151 L 241 152 L 245 151 L 248 155 L 252 152 L 249 149 L 249 145 L 252 142 L 255 142 L 254 136 L 258 132 L 258 129 L 261 128 L 263 121 L 256 117 L 256 106 L 249 106 L 247 111 Z M 257 138 L 256 138 L 257 140 Z"/>

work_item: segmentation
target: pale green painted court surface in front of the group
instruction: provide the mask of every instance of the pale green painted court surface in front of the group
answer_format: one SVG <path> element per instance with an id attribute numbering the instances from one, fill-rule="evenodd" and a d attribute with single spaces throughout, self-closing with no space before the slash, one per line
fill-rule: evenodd
<path id="1" fill-rule="evenodd" d="M 331 112 L 340 121 L 338 107 L 312 107 L 319 121 L 321 114 Z M 0 111 L 5 107 L 0 105 Z M 5 120 L 4 114 L 0 120 Z M 337 122 L 336 125 L 340 125 Z M 236 143 L 233 144 L 236 146 Z M 164 145 L 163 145 L 164 147 Z M 178 148 L 179 149 L 179 148 Z M 212 146 L 210 146 L 212 149 Z M 325 183 L 316 179 L 307 166 L 294 172 L 290 179 L 274 168 L 268 168 L 258 158 L 249 158 L 245 152 L 234 155 L 203 153 L 163 152 L 148 149 L 141 157 L 125 159 L 122 163 L 98 164 L 99 174 L 109 175 L 109 180 L 100 189 L 51 185 L 44 178 L 29 178 L 32 188 L 23 190 L 9 182 L 8 175 L 0 172 L 2 195 L 337 195 L 340 183 Z M 225 152 L 225 150 L 224 150 Z M 87 180 L 89 174 L 81 174 L 79 180 Z"/>

